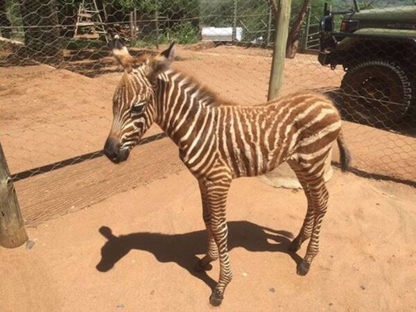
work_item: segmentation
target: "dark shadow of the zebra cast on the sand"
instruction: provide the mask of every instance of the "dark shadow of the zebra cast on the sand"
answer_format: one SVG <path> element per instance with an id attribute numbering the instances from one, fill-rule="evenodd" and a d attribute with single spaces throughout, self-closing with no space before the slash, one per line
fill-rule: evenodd
<path id="1" fill-rule="evenodd" d="M 296 263 L 302 261 L 297 254 L 288 252 L 293 237 L 291 232 L 262 227 L 248 221 L 230 221 L 228 229 L 229 250 L 241 247 L 251 252 L 283 252 L 289 254 Z M 207 249 L 205 230 L 184 234 L 138 232 L 115 236 L 110 227 L 103 226 L 99 232 L 107 239 L 101 248 L 101 261 L 96 266 L 100 272 L 111 270 L 130 250 L 146 250 L 154 254 L 159 262 L 175 262 L 194 277 L 205 281 L 209 287 L 216 285 L 216 281 L 205 272 L 193 270 L 198 261 L 196 254 L 204 254 Z M 219 266 L 218 261 L 213 264 Z"/>

